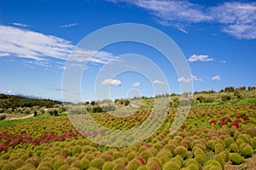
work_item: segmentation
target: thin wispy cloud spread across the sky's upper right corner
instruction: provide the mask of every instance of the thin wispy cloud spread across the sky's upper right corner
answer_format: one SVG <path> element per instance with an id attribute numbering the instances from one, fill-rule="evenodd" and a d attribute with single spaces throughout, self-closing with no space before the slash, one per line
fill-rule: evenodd
<path id="1" fill-rule="evenodd" d="M 144 8 L 163 26 L 177 27 L 177 23 L 183 26 L 196 23 L 215 26 L 217 23 L 220 31 L 238 39 L 256 38 L 255 2 L 218 3 L 212 7 L 179 0 L 112 0 L 110 2 L 125 2 Z"/>

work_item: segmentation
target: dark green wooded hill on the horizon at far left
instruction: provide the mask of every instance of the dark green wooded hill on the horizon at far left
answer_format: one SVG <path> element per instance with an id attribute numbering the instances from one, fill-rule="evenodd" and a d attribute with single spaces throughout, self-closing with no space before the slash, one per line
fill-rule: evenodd
<path id="1" fill-rule="evenodd" d="M 15 109 L 19 107 L 32 107 L 36 105 L 49 108 L 58 104 L 61 104 L 61 102 L 52 99 L 34 99 L 20 95 L 0 94 L 0 109 Z"/>

